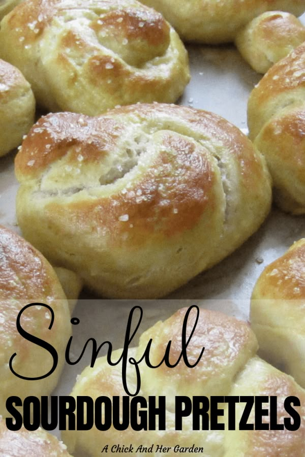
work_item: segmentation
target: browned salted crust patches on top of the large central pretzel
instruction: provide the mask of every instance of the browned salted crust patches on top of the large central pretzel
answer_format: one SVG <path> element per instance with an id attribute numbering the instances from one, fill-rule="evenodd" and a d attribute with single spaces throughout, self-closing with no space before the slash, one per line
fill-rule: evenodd
<path id="1" fill-rule="evenodd" d="M 85 227 L 89 220 L 90 230 L 93 231 L 101 226 L 111 227 L 110 238 L 116 240 L 128 230 L 133 246 L 141 243 L 143 236 L 149 233 L 157 237 L 158 233 L 172 237 L 191 230 L 201 215 L 213 211 L 216 204 L 215 164 L 212 165 L 209 150 L 196 141 L 199 132 L 206 132 L 206 135 L 212 132 L 215 141 L 221 142 L 231 158 L 238 162 L 240 178 L 241 181 L 245 180 L 245 186 L 257 186 L 261 164 L 253 154 L 251 142 L 236 127 L 211 113 L 162 104 L 118 108 L 94 118 L 73 113 L 51 114 L 41 118 L 27 135 L 16 156 L 18 179 L 24 183 L 39 179 L 53 162 L 68 152 L 72 167 L 79 164 L 80 150 L 82 167 L 110 157 L 117 141 L 122 135 L 128 134 L 128 129 L 133 125 L 133 121 L 128 120 L 128 115 L 133 114 L 136 121 L 148 119 L 149 122 L 151 119 L 152 124 L 158 122 L 159 116 L 178 116 L 181 122 L 188 125 L 189 132 L 186 134 L 193 134 L 195 140 L 186 135 L 176 135 L 171 127 L 167 130 L 165 123 L 160 127 L 164 129 L 160 152 L 137 183 L 137 192 L 117 193 L 111 198 L 104 198 L 101 193 L 96 200 L 77 200 L 64 206 L 50 202 L 46 207 L 47 216 L 50 214 L 51 217 L 56 212 L 59 218 L 69 217 L 72 226 Z M 160 191 L 161 184 L 167 189 L 166 200 L 170 202 L 166 206 L 163 204 L 164 194 Z M 139 195 L 145 196 L 141 204 Z M 121 215 L 126 214 L 129 217 L 128 227 L 119 220 Z M 179 214 L 178 222 L 176 214 Z"/>

